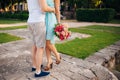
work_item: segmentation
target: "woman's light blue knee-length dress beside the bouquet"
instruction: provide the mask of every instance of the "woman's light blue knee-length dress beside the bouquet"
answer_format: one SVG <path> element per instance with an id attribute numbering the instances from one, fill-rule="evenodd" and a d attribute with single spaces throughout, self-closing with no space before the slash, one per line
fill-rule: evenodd
<path id="1" fill-rule="evenodd" d="M 54 0 L 46 0 L 48 6 L 54 7 Z M 46 24 L 46 40 L 50 40 L 51 44 L 55 43 L 54 40 L 54 28 L 57 24 L 56 16 L 52 12 L 46 12 L 45 14 L 45 24 Z"/>

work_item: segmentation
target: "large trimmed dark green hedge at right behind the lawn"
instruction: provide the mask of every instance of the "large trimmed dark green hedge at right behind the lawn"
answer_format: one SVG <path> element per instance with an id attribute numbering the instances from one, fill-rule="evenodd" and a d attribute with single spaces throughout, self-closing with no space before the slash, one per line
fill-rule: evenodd
<path id="1" fill-rule="evenodd" d="M 88 22 L 109 22 L 115 16 L 115 10 L 104 9 L 77 9 L 76 18 L 78 21 Z"/>

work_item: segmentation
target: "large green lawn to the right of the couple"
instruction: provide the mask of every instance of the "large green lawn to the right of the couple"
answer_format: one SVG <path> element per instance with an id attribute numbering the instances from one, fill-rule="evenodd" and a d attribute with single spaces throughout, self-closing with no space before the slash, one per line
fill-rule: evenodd
<path id="1" fill-rule="evenodd" d="M 98 50 L 120 40 L 120 27 L 94 25 L 84 28 L 71 28 L 70 30 L 72 32 L 92 35 L 92 37 L 89 38 L 76 38 L 64 44 L 56 44 L 59 52 L 77 58 L 85 59 Z"/>

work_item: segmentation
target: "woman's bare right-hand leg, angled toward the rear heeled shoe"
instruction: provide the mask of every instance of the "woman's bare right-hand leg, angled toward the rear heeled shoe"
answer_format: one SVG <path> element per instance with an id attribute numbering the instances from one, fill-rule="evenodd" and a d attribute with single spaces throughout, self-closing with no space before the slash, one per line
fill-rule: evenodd
<path id="1" fill-rule="evenodd" d="M 54 45 L 54 44 L 51 44 L 51 43 L 50 43 L 50 40 L 47 40 L 47 41 L 46 41 L 46 46 L 49 47 L 49 49 L 54 53 L 57 61 L 60 61 L 60 55 L 59 55 L 59 53 L 57 52 L 57 49 L 56 49 L 55 45 Z"/>

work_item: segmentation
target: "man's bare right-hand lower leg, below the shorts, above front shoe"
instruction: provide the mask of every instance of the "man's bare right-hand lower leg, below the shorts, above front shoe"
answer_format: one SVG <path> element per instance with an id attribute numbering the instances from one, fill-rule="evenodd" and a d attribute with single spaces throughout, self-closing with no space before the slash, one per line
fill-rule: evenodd
<path id="1" fill-rule="evenodd" d="M 41 64 L 42 64 L 42 58 L 43 58 L 43 51 L 44 48 L 37 48 L 37 53 L 36 53 L 36 72 L 41 71 Z"/>

